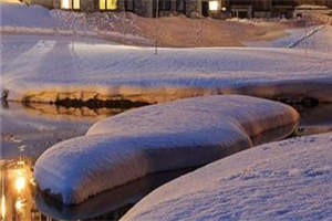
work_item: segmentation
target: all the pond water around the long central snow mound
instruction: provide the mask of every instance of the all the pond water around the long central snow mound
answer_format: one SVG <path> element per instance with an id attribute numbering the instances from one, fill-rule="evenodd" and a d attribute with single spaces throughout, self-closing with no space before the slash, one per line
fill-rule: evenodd
<path id="1" fill-rule="evenodd" d="M 0 178 L 2 220 L 118 220 L 144 196 L 190 171 L 160 172 L 103 192 L 75 207 L 63 207 L 37 191 L 33 164 L 52 145 L 84 135 L 92 124 L 125 109 L 66 108 L 52 105 L 2 104 Z M 299 108 L 295 135 L 332 131 L 332 105 Z"/>

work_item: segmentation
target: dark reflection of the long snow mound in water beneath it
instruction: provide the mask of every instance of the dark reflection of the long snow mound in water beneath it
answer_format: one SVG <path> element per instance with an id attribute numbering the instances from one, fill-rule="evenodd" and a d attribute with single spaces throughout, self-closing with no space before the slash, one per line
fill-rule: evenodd
<path id="1" fill-rule="evenodd" d="M 56 204 L 42 193 L 37 194 L 38 208 L 60 220 L 118 220 L 128 209 L 147 193 L 163 183 L 179 177 L 194 168 L 146 176 L 128 185 L 102 192 L 79 206 Z"/>

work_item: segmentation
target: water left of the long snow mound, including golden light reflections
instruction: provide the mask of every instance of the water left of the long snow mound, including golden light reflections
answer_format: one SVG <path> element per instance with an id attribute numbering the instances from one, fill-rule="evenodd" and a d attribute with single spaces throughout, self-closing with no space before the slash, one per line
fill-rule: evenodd
<path id="1" fill-rule="evenodd" d="M 34 160 L 52 145 L 84 135 L 96 120 L 124 110 L 3 102 L 1 105 L 0 220 L 55 220 L 42 214 L 34 202 Z"/>

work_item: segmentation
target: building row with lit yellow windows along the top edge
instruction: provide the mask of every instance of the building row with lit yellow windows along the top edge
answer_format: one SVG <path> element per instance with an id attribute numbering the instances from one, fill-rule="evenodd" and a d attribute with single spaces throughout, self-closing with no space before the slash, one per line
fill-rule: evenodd
<path id="1" fill-rule="evenodd" d="M 22 0 L 28 4 L 79 11 L 131 11 L 143 17 L 184 13 L 190 18 L 292 18 L 303 3 L 332 7 L 331 0 Z M 157 13 L 158 11 L 158 13 Z"/>

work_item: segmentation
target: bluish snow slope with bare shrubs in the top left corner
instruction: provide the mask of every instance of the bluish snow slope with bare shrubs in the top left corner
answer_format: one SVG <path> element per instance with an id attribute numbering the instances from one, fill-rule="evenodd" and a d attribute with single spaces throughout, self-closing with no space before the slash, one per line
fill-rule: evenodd
<path id="1" fill-rule="evenodd" d="M 38 4 L 27 6 L 20 2 L 0 1 L 1 25 L 0 32 L 10 34 L 41 34 L 41 35 L 74 35 L 108 40 L 122 40 L 148 44 L 149 41 L 138 35 L 137 28 L 131 20 L 110 13 L 73 12 L 63 10 L 49 10 Z M 129 33 L 114 23 L 124 19 Z M 123 23 L 123 22 L 122 22 Z M 128 31 L 128 30 L 127 30 Z"/>

